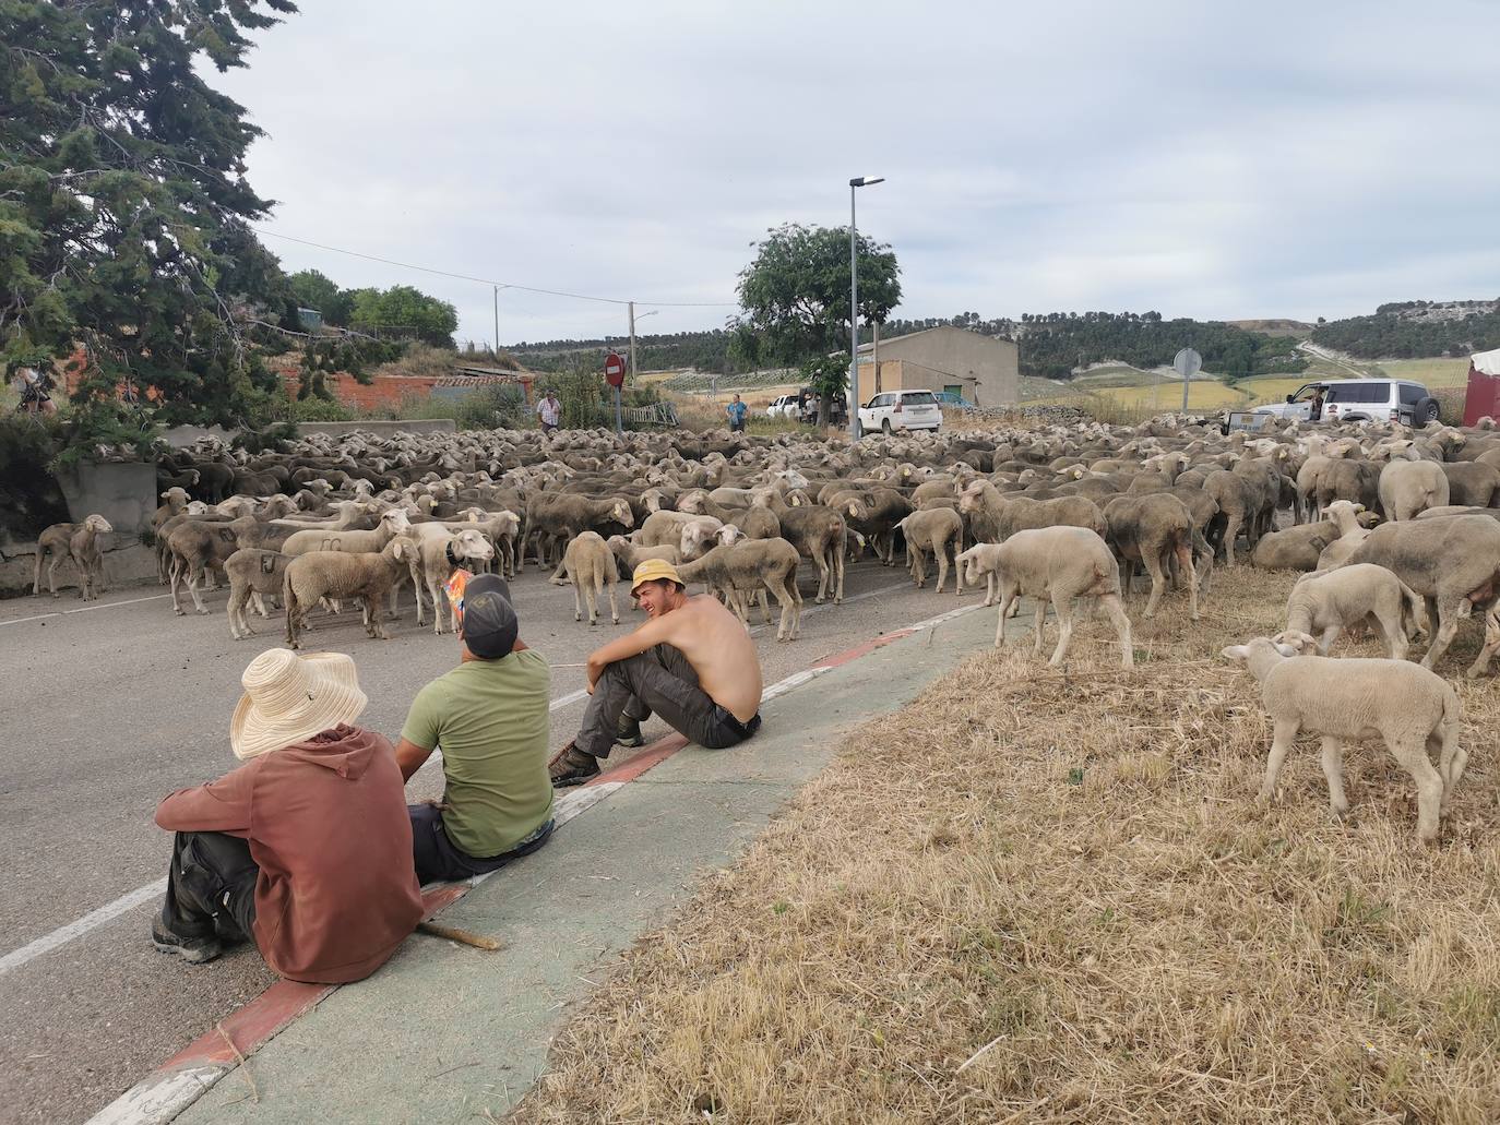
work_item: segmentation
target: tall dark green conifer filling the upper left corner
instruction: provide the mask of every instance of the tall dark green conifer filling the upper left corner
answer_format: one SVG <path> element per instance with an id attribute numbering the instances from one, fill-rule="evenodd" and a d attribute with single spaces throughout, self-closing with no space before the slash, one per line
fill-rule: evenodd
<path id="1" fill-rule="evenodd" d="M 291 0 L 0 0 L 0 363 L 84 348 L 75 398 L 124 378 L 165 420 L 236 422 L 274 376 L 250 321 L 291 298 L 248 222 L 261 130 L 194 68 L 243 66 Z"/>

